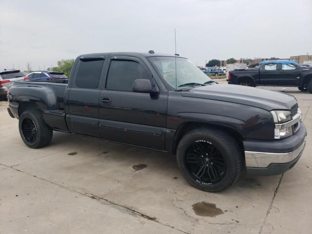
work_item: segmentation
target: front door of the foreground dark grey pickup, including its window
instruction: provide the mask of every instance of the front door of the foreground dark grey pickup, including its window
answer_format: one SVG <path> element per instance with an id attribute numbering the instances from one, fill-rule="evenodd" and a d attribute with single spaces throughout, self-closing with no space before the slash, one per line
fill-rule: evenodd
<path id="1" fill-rule="evenodd" d="M 141 59 L 111 54 L 109 63 L 99 95 L 101 137 L 164 150 L 168 91 L 159 90 L 157 95 L 132 92 L 135 79 L 150 79 L 158 87 Z"/>

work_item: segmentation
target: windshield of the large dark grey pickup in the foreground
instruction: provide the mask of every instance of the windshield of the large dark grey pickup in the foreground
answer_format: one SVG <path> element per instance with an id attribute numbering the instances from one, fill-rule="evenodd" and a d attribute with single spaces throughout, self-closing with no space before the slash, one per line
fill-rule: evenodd
<path id="1" fill-rule="evenodd" d="M 212 79 L 188 59 L 162 56 L 149 57 L 148 59 L 154 64 L 163 79 L 175 89 L 179 86 L 181 88 L 182 86 L 187 87 L 212 83 L 208 82 L 212 81 Z"/>

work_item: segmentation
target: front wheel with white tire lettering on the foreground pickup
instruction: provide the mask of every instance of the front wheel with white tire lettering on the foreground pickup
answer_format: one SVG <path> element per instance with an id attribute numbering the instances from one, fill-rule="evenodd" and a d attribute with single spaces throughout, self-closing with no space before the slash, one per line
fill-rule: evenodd
<path id="1" fill-rule="evenodd" d="M 182 176 L 195 188 L 219 192 L 230 187 L 242 170 L 236 140 L 218 129 L 199 128 L 180 140 L 176 160 Z"/>

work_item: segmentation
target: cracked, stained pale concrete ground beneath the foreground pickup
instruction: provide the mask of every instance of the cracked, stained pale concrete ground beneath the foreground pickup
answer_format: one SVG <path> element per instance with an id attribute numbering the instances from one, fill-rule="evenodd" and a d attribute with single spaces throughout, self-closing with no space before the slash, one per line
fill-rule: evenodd
<path id="1" fill-rule="evenodd" d="M 160 152 L 64 133 L 29 149 L 18 121 L 0 111 L 0 233 L 309 233 L 312 95 L 286 90 L 309 133 L 302 158 L 283 176 L 243 175 L 218 194 L 188 185 L 175 157 Z M 133 173 L 140 164 L 148 167 Z M 200 202 L 223 214 L 196 215 Z"/>

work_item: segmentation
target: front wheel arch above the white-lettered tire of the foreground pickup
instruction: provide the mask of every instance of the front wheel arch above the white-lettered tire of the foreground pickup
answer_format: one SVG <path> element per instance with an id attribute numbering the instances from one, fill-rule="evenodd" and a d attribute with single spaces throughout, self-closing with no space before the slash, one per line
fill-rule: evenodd
<path id="1" fill-rule="evenodd" d="M 176 130 L 176 134 L 173 140 L 173 154 L 176 154 L 177 146 L 182 139 L 183 136 L 185 136 L 187 133 L 200 128 L 213 128 L 213 129 L 219 129 L 227 134 L 233 136 L 236 141 L 239 143 L 242 151 L 244 150 L 243 146 L 243 137 L 241 133 L 239 133 L 237 130 L 231 128 L 231 127 L 225 127 L 223 125 L 217 125 L 217 124 L 210 124 L 210 123 L 203 123 L 203 122 L 186 122 L 182 123 Z"/>

